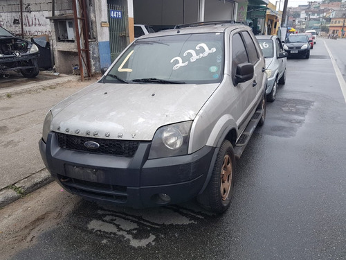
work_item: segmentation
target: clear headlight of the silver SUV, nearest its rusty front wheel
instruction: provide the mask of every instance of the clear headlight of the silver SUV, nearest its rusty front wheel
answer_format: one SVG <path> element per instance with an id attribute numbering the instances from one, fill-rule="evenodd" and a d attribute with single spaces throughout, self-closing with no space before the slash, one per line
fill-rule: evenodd
<path id="1" fill-rule="evenodd" d="M 192 121 L 158 128 L 152 140 L 149 159 L 188 154 Z"/>

